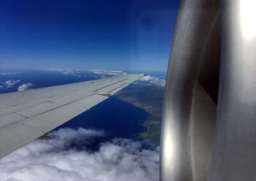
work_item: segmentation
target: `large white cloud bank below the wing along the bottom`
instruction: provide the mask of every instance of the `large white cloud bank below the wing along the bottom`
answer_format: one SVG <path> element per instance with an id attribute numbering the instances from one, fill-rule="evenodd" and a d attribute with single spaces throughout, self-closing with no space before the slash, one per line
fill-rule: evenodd
<path id="1" fill-rule="evenodd" d="M 59 129 L 51 141 L 33 141 L 0 159 L 0 180 L 159 180 L 159 148 L 115 138 L 98 151 L 83 147 L 102 131 Z"/>

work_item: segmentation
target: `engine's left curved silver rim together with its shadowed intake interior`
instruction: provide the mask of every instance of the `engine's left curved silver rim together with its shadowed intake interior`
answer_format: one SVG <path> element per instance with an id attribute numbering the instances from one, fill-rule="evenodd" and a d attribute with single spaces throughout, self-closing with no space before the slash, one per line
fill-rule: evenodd
<path id="1" fill-rule="evenodd" d="M 217 97 L 218 90 L 218 62 L 219 1 L 182 1 L 164 92 L 161 180 L 207 179 L 215 124 L 214 97 Z M 197 81 L 203 87 L 202 94 L 196 93 Z M 209 81 L 212 83 L 207 83 Z M 204 99 L 205 94 L 210 96 Z M 202 127 L 198 124 L 202 124 Z M 204 159 L 200 159 L 200 156 Z"/>

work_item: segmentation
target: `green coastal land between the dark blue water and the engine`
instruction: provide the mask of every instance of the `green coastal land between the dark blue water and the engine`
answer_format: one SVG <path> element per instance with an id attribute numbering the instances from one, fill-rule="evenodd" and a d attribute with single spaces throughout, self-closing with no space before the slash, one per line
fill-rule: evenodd
<path id="1" fill-rule="evenodd" d="M 147 127 L 147 131 L 138 136 L 159 145 L 164 87 L 132 84 L 117 92 L 115 96 L 134 106 L 143 108 L 149 113 L 147 119 L 143 121 L 143 126 Z"/>

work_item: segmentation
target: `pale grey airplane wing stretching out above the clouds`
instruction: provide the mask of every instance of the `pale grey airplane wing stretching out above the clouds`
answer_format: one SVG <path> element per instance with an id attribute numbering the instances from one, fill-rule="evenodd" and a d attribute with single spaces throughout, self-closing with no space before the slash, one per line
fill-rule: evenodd
<path id="1" fill-rule="evenodd" d="M 0 158 L 104 101 L 140 76 L 120 75 L 0 94 Z"/>

